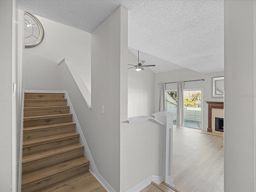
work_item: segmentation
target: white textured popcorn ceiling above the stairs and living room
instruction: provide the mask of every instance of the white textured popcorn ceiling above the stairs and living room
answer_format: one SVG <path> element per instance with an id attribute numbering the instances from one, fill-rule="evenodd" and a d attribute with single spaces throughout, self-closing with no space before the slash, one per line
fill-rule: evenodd
<path id="1" fill-rule="evenodd" d="M 155 73 L 224 66 L 223 0 L 18 0 L 19 8 L 92 32 L 118 6 L 128 11 L 128 46 Z M 161 59 L 160 59 L 161 58 Z"/>

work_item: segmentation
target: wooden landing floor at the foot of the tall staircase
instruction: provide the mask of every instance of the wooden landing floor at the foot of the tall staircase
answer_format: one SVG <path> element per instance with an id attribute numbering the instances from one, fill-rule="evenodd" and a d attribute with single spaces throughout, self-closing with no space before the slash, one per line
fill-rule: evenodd
<path id="1" fill-rule="evenodd" d="M 88 170 L 36 192 L 106 192 L 106 190 Z"/>

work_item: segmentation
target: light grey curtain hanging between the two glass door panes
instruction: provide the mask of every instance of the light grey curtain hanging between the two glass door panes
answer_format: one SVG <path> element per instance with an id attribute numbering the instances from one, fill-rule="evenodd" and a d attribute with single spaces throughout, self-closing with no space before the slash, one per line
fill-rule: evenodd
<path id="1" fill-rule="evenodd" d="M 184 126 L 184 99 L 183 99 L 183 89 L 184 89 L 184 82 L 179 81 L 177 82 L 177 114 L 176 114 L 176 126 L 183 127 Z"/>

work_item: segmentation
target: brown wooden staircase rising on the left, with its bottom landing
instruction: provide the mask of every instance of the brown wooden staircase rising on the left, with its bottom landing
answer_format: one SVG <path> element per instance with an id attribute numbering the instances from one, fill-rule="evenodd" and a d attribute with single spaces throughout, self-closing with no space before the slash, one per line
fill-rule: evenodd
<path id="1" fill-rule="evenodd" d="M 25 93 L 22 192 L 106 192 L 66 104 L 64 93 Z"/>

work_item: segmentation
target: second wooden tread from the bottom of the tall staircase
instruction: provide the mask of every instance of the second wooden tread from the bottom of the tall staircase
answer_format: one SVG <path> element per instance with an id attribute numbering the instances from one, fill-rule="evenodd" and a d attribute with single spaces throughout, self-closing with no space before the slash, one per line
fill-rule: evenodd
<path id="1" fill-rule="evenodd" d="M 82 144 L 76 143 L 76 144 L 61 146 L 61 147 L 52 148 L 49 150 L 44 150 L 44 151 L 24 155 L 22 158 L 22 164 L 30 163 L 30 162 L 37 161 L 37 160 L 42 160 L 44 158 L 49 158 L 52 156 L 64 154 L 64 153 L 67 153 L 70 151 L 73 152 L 75 150 L 80 150 L 83 148 L 84 148 L 84 146 Z"/>

